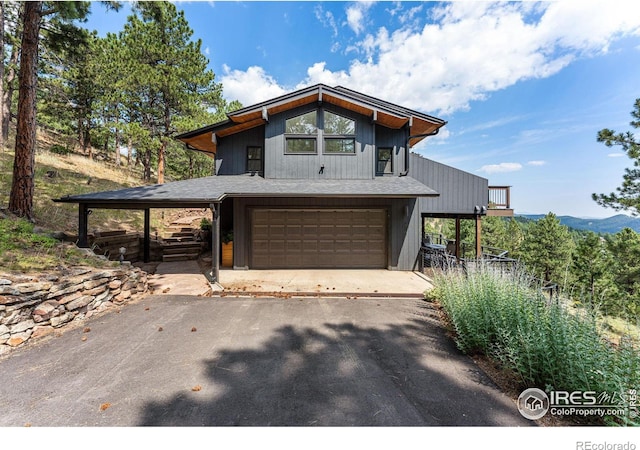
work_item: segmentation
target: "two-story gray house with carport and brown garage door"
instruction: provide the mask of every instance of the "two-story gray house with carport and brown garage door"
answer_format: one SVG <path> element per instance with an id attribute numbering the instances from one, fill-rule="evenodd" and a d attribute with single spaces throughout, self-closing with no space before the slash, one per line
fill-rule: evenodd
<path id="1" fill-rule="evenodd" d="M 234 269 L 414 270 L 426 217 L 479 225 L 489 211 L 486 179 L 410 152 L 445 124 L 318 84 L 177 136 L 215 158 L 210 177 L 57 201 L 79 204 L 81 246 L 92 208 L 144 210 L 148 258 L 150 208 L 211 207 L 214 242 L 233 231 Z"/>

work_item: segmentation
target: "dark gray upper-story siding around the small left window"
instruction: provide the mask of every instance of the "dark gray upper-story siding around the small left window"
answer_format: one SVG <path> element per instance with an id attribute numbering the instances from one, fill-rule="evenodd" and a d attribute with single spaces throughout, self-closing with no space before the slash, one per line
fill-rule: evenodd
<path id="1" fill-rule="evenodd" d="M 247 147 L 262 147 L 264 155 L 265 127 L 218 138 L 216 175 L 240 175 L 247 171 Z"/>

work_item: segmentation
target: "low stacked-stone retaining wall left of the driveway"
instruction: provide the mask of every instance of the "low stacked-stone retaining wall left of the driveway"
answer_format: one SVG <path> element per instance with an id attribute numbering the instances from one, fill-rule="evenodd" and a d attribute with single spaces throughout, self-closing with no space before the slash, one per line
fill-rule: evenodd
<path id="1" fill-rule="evenodd" d="M 74 268 L 37 277 L 0 273 L 0 355 L 147 291 L 147 273 Z"/>

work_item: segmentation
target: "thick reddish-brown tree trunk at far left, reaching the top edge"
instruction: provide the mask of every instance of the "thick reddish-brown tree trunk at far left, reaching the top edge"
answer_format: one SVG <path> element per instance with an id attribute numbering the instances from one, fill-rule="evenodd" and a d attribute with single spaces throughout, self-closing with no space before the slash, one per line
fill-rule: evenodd
<path id="1" fill-rule="evenodd" d="M 42 2 L 27 2 L 20 55 L 18 122 L 9 210 L 33 219 L 33 176 L 36 153 L 36 84 Z"/>

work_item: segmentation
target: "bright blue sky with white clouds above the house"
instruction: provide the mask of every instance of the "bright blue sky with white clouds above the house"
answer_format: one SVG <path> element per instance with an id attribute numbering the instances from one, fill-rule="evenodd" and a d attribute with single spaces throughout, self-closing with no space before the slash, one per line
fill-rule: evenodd
<path id="1" fill-rule="evenodd" d="M 634 131 L 640 1 L 176 2 L 227 100 L 324 83 L 447 121 L 413 151 L 512 186 L 519 214 L 609 217 L 632 161 L 596 140 Z M 93 6 L 102 36 L 119 12 Z"/>

